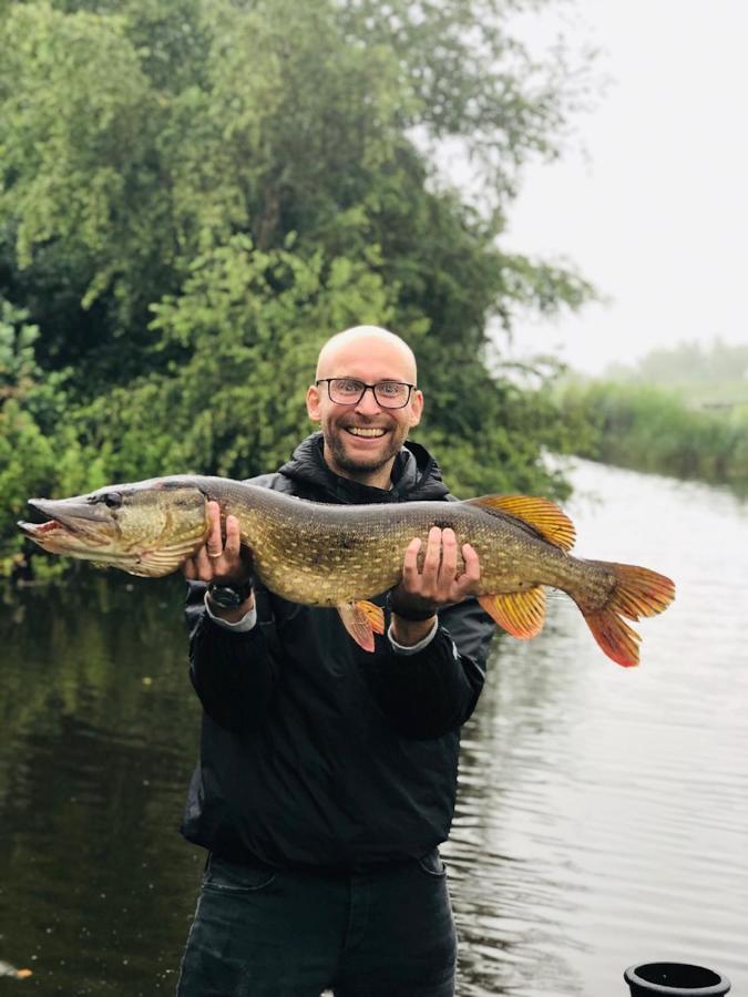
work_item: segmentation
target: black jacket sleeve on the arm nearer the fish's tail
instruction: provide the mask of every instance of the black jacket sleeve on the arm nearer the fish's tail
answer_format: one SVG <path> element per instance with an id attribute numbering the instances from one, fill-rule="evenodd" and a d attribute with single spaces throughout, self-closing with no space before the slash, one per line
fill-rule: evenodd
<path id="1" fill-rule="evenodd" d="M 464 723 L 485 680 L 493 620 L 474 599 L 439 614 L 433 640 L 414 655 L 398 655 L 387 639 L 361 666 L 392 727 L 407 738 L 439 738 Z M 366 652 L 362 652 L 366 654 Z"/>

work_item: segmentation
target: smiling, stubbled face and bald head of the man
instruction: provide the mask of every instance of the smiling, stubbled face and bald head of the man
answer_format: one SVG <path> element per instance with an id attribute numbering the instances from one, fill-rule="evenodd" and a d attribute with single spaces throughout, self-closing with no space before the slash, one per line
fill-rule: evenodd
<path id="1" fill-rule="evenodd" d="M 319 378 L 356 378 L 367 384 L 404 381 L 412 384 L 411 358 L 397 343 L 360 338 L 342 343 L 326 356 Z M 392 462 L 423 408 L 420 391 L 412 391 L 402 409 L 381 407 L 372 391 L 355 405 L 336 404 L 328 386 L 312 384 L 307 392 L 309 418 L 319 422 L 325 438 L 325 460 L 332 471 L 379 487 L 387 487 Z"/>

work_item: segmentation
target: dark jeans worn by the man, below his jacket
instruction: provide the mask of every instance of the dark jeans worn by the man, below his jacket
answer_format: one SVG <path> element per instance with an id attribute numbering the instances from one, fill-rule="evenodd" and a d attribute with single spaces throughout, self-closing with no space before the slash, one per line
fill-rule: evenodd
<path id="1" fill-rule="evenodd" d="M 437 850 L 353 873 L 212 855 L 177 997 L 452 997 L 455 962 Z"/>

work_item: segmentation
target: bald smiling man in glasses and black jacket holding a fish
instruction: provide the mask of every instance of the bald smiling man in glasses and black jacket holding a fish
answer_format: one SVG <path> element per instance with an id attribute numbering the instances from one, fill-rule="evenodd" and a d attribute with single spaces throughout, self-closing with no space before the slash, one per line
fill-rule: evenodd
<path id="1" fill-rule="evenodd" d="M 407 443 L 423 397 L 397 336 L 357 327 L 322 348 L 307 409 L 321 433 L 255 484 L 329 503 L 448 500 Z M 201 762 L 183 833 L 209 857 L 180 997 L 447 997 L 455 932 L 438 845 L 449 833 L 459 729 L 494 630 L 451 530 L 414 538 L 373 654 L 335 609 L 252 583 L 217 505 L 191 579 Z M 203 584 L 198 584 L 203 583 Z M 207 583 L 207 590 L 205 588 Z M 380 600 L 381 602 L 381 600 Z"/>

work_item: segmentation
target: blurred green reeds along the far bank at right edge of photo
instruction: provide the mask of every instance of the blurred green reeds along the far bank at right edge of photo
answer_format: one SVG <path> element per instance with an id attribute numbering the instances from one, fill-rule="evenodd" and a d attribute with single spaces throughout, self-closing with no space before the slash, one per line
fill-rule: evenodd
<path id="1" fill-rule="evenodd" d="M 696 408 L 677 391 L 595 381 L 567 384 L 562 409 L 588 426 L 581 456 L 748 491 L 748 403 Z"/>

